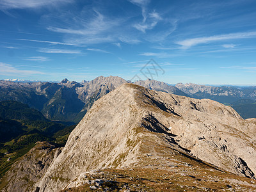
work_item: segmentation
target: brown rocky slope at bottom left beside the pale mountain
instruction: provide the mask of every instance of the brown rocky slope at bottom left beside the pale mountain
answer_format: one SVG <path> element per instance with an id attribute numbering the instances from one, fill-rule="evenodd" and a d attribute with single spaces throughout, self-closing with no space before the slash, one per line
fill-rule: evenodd
<path id="1" fill-rule="evenodd" d="M 60 152 L 61 148 L 46 141 L 36 143 L 1 179 L 2 191 L 33 191 L 33 184 L 44 175 Z"/>

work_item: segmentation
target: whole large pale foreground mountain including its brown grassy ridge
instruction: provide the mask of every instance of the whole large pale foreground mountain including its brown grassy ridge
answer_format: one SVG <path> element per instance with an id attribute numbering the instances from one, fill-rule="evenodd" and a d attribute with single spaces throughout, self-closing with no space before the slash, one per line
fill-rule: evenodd
<path id="1" fill-rule="evenodd" d="M 94 102 L 33 191 L 255 191 L 255 132 L 255 119 L 214 100 L 122 84 Z"/>

